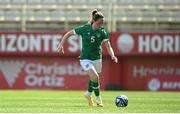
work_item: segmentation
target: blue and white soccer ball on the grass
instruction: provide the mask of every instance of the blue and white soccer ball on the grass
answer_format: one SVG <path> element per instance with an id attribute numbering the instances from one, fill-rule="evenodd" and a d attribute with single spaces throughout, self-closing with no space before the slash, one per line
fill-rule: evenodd
<path id="1" fill-rule="evenodd" d="M 117 107 L 126 107 L 128 105 L 128 98 L 125 95 L 119 95 L 115 99 Z"/>

